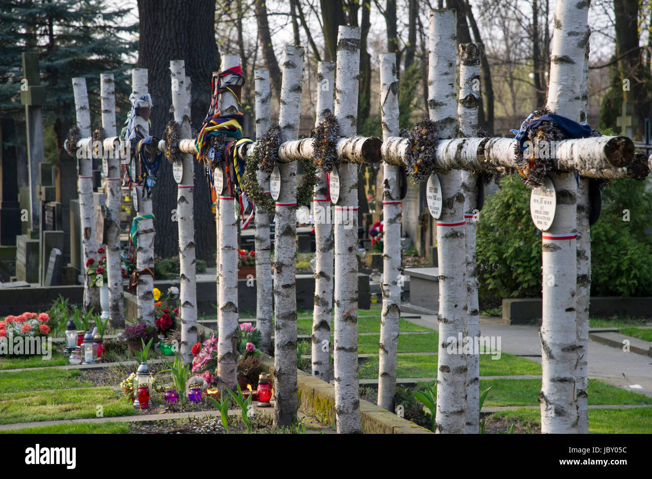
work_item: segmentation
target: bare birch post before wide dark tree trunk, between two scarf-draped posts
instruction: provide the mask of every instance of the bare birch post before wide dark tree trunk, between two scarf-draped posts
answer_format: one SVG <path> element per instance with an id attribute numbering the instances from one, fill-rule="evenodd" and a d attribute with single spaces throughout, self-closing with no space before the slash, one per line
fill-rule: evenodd
<path id="1" fill-rule="evenodd" d="M 186 72 L 183 60 L 170 61 L 172 109 L 180 126 L 179 136 L 190 138 L 190 115 L 186 98 Z M 181 153 L 183 173 L 177 184 L 177 226 L 179 227 L 179 312 L 181 313 L 181 348 L 184 364 L 192 363 L 192 346 L 197 342 L 197 283 L 195 281 L 194 158 Z"/>

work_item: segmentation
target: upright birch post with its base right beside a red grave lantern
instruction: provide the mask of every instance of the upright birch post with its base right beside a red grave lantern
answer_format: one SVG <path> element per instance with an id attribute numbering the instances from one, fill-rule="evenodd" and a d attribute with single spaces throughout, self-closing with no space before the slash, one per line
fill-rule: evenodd
<path id="1" fill-rule="evenodd" d="M 278 123 L 282 141 L 299 138 L 303 47 L 283 49 Z M 278 164 L 281 184 L 274 232 L 274 424 L 289 426 L 297 414 L 297 162 Z"/>

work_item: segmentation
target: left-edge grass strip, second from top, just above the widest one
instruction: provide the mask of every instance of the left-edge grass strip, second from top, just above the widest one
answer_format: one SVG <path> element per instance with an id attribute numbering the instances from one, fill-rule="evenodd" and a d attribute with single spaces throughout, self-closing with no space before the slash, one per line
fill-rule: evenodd
<path id="1" fill-rule="evenodd" d="M 33 370 L 0 373 L 0 392 L 27 392 L 44 389 L 88 388 L 90 381 L 80 381 L 80 370 Z M 5 394 L 6 396 L 6 394 Z"/>

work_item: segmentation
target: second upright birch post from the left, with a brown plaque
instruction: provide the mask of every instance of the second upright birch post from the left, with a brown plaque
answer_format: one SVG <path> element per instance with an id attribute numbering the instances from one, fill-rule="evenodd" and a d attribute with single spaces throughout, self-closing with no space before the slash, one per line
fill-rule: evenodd
<path id="1" fill-rule="evenodd" d="M 102 128 L 106 138 L 116 135 L 115 83 L 113 74 L 100 75 L 102 96 Z M 107 164 L 106 177 L 106 274 L 109 281 L 109 322 L 112 328 L 125 327 L 122 259 L 120 257 L 120 207 L 122 203 L 119 150 L 102 148 Z"/>

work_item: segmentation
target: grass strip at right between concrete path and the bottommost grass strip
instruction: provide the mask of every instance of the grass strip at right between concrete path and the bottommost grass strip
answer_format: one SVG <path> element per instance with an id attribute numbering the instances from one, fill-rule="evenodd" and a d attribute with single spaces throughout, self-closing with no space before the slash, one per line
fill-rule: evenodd
<path id="1" fill-rule="evenodd" d="M 482 370 L 481 370 L 482 371 Z M 491 386 L 485 406 L 524 406 L 539 404 L 541 379 L 488 379 L 480 381 L 480 390 Z M 652 398 L 640 392 L 589 379 L 589 404 L 652 404 Z"/>

